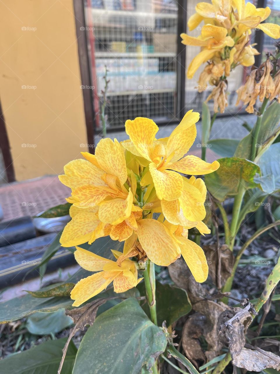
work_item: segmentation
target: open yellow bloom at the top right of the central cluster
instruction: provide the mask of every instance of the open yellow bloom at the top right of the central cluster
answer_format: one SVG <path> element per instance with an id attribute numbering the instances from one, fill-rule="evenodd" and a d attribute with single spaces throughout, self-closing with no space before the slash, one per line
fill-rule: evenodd
<path id="1" fill-rule="evenodd" d="M 183 177 L 178 172 L 202 175 L 219 167 L 217 161 L 210 164 L 196 156 L 184 157 L 195 141 L 195 123 L 198 120 L 199 113 L 189 110 L 168 138 L 158 140 L 155 138 L 158 126 L 153 120 L 137 117 L 125 122 L 130 142 L 122 142 L 122 145 L 136 157 L 143 157 L 149 162 L 140 184 L 153 183 L 159 200 L 171 201 L 181 196 Z"/>

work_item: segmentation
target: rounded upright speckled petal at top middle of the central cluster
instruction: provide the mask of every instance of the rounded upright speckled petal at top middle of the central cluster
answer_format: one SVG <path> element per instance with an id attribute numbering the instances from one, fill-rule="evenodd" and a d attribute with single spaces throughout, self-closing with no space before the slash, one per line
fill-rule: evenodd
<path id="1" fill-rule="evenodd" d="M 155 122 L 144 117 L 136 117 L 133 121 L 128 119 L 125 122 L 125 131 L 138 153 L 145 159 L 152 161 L 153 141 L 158 132 Z"/>

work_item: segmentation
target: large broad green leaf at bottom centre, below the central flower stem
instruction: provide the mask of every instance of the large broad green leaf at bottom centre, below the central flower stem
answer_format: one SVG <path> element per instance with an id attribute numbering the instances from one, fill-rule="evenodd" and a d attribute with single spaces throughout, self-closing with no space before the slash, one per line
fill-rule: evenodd
<path id="1" fill-rule="evenodd" d="M 78 349 L 72 374 L 139 374 L 164 352 L 167 338 L 135 298 L 99 315 Z"/>

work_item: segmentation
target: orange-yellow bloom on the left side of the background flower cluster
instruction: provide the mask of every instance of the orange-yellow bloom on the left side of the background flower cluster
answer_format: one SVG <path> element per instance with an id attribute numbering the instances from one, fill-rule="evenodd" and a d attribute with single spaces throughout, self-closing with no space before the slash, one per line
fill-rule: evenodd
<path id="1" fill-rule="evenodd" d="M 234 40 L 227 36 L 227 29 L 224 27 L 214 26 L 206 24 L 201 29 L 201 35 L 199 37 L 191 37 L 187 34 L 181 34 L 184 45 L 201 46 L 202 50 L 195 56 L 188 67 L 187 77 L 191 79 L 195 74 L 196 70 L 204 62 L 208 61 L 217 52 L 221 52 L 225 46 L 233 47 Z"/>

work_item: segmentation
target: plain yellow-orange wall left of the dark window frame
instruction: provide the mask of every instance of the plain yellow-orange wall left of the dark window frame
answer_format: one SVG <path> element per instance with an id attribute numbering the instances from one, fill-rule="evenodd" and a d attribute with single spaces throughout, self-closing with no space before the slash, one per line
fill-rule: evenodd
<path id="1" fill-rule="evenodd" d="M 0 1 L 0 98 L 17 180 L 59 174 L 85 150 L 72 1 Z"/>

